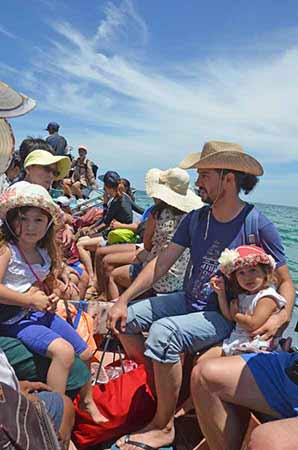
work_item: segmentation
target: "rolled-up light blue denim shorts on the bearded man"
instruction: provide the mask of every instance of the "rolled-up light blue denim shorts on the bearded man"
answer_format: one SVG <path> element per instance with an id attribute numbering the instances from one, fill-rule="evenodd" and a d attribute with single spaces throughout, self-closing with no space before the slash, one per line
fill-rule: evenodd
<path id="1" fill-rule="evenodd" d="M 233 328 L 218 311 L 197 311 L 184 292 L 151 297 L 128 307 L 125 334 L 149 331 L 145 356 L 174 364 L 180 353 L 197 353 L 223 341 Z"/>

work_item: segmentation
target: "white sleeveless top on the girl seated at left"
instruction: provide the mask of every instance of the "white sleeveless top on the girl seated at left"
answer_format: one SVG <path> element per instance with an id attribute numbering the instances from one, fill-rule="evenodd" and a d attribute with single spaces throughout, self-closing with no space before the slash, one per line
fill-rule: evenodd
<path id="1" fill-rule="evenodd" d="M 18 248 L 11 243 L 8 243 L 7 246 L 11 252 L 11 257 L 2 284 L 13 291 L 24 293 L 36 283 L 36 278 L 31 272 L 28 264 L 23 260 Z M 50 273 L 51 258 L 46 249 L 37 248 L 37 250 L 43 259 L 43 264 L 32 264 L 32 268 L 39 279 L 44 281 Z M 19 316 L 21 318 L 22 311 L 25 312 L 20 306 L 9 306 L 0 303 L 0 323 L 8 321 L 14 316 Z"/>

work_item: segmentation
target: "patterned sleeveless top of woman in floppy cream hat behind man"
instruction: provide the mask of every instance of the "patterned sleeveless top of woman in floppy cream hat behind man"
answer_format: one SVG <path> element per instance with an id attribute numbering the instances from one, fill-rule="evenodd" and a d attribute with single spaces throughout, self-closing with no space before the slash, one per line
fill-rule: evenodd
<path id="1" fill-rule="evenodd" d="M 152 249 L 147 262 L 157 256 L 171 242 L 174 233 L 184 215 L 175 216 L 171 210 L 164 209 L 156 220 L 152 238 Z M 190 258 L 189 249 L 185 249 L 170 270 L 153 285 L 157 293 L 182 291 L 185 270 Z"/>

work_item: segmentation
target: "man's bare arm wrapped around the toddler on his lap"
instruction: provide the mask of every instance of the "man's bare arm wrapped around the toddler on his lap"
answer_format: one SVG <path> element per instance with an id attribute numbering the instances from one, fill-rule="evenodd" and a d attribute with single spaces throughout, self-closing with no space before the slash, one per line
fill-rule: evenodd
<path id="1" fill-rule="evenodd" d="M 273 314 L 264 323 L 263 326 L 252 332 L 252 336 L 260 335 L 262 339 L 270 339 L 278 335 L 279 330 L 283 330 L 289 324 L 295 303 L 296 291 L 287 265 L 276 269 L 275 274 L 278 278 L 278 292 L 282 295 L 287 304 L 277 314 Z"/>

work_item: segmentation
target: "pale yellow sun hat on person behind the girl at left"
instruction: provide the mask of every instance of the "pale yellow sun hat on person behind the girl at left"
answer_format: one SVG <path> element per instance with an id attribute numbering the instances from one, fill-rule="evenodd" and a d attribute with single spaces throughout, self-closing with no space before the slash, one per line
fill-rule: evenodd
<path id="1" fill-rule="evenodd" d="M 29 166 L 50 166 L 51 164 L 57 164 L 58 174 L 54 177 L 54 180 L 62 180 L 70 170 L 70 159 L 68 156 L 55 156 L 46 150 L 33 150 L 29 153 L 24 161 L 24 168 Z"/>

